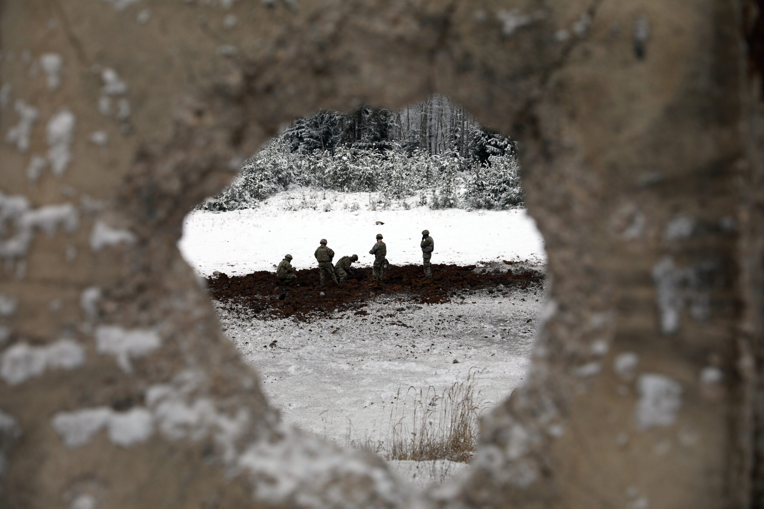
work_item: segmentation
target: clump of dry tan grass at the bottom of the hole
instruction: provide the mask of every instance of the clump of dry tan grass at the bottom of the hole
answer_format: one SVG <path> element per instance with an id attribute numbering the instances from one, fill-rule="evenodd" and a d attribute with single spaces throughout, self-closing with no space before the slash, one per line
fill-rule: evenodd
<path id="1" fill-rule="evenodd" d="M 475 388 L 474 373 L 438 393 L 410 388 L 398 391 L 391 436 L 380 451 L 385 459 L 469 462 L 478 446 L 478 417 L 488 406 Z"/>

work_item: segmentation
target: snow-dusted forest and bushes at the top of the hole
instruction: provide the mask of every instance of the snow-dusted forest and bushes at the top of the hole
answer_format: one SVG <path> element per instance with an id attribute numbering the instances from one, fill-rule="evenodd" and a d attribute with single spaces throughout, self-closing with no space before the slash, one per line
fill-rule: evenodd
<path id="1" fill-rule="evenodd" d="M 513 140 L 432 95 L 400 110 L 360 106 L 298 118 L 199 208 L 253 208 L 293 185 L 376 193 L 386 206 L 418 196 L 431 208 L 516 208 L 519 172 Z"/>

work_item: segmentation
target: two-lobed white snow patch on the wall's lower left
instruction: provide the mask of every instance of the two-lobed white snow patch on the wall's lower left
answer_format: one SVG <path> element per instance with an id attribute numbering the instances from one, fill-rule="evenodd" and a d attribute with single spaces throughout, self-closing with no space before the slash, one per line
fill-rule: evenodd
<path id="1" fill-rule="evenodd" d="M 154 418 L 145 408 L 117 412 L 99 407 L 59 412 L 51 424 L 70 449 L 85 445 L 104 428 L 108 428 L 109 440 L 122 447 L 145 442 L 154 434 Z"/>

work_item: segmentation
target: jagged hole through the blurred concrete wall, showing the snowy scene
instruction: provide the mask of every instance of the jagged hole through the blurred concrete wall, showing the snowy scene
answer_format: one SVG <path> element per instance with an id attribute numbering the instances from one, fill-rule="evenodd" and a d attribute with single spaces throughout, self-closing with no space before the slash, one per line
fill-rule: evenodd
<path id="1" fill-rule="evenodd" d="M 319 274 L 322 238 L 337 282 Z M 524 378 L 544 303 L 516 143 L 439 95 L 296 119 L 186 217 L 179 246 L 287 423 L 422 487 L 470 461 L 477 417 Z"/>

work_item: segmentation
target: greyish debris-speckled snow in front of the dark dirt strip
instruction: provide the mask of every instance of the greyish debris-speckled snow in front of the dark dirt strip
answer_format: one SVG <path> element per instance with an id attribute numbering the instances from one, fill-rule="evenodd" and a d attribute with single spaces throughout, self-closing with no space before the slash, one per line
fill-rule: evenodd
<path id="1" fill-rule="evenodd" d="M 365 317 L 348 312 L 308 324 L 250 320 L 244 311 L 223 309 L 219 316 L 283 420 L 345 446 L 384 450 L 393 420 L 410 414 L 401 408 L 411 403 L 408 391 L 440 393 L 473 372 L 481 400 L 492 406 L 522 383 L 541 288 L 477 292 L 445 304 L 399 299 L 377 298 L 364 308 Z M 408 462 L 395 468 L 416 485 L 442 481 L 459 469 L 415 469 Z"/>

